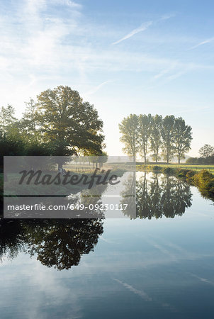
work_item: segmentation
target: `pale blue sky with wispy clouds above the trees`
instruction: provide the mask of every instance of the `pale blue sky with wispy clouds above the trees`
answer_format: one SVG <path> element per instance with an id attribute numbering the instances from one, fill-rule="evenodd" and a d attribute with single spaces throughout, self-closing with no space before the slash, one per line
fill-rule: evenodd
<path id="1" fill-rule="evenodd" d="M 94 104 L 108 155 L 130 113 L 181 116 L 213 145 L 214 2 L 0 0 L 0 106 L 67 85 Z"/>

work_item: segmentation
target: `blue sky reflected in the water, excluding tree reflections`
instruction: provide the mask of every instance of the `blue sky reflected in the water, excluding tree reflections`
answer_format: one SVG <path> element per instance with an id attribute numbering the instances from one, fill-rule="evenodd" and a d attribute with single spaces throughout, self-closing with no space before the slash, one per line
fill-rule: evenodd
<path id="1" fill-rule="evenodd" d="M 1 264 L 1 318 L 213 318 L 214 207 L 106 219 L 94 252 L 59 272 L 19 254 Z"/>

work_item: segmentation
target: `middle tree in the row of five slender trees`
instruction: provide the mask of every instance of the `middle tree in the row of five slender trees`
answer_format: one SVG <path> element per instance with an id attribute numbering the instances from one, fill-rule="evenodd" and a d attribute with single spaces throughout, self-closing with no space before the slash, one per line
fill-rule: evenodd
<path id="1" fill-rule="evenodd" d="M 157 161 L 160 159 L 159 151 L 162 147 L 162 116 L 156 114 L 152 116 L 150 150 L 152 151 L 152 159 Z"/>

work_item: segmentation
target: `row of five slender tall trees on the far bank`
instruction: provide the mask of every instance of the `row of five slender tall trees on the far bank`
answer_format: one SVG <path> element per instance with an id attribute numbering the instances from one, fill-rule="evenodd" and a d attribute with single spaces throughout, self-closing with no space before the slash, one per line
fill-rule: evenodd
<path id="1" fill-rule="evenodd" d="M 122 134 L 120 141 L 125 145 L 123 152 L 133 157 L 134 162 L 139 154 L 144 157 L 145 164 L 148 155 L 155 162 L 163 157 L 167 164 L 176 156 L 180 163 L 191 149 L 192 129 L 181 117 L 130 114 L 123 118 L 119 129 Z"/>

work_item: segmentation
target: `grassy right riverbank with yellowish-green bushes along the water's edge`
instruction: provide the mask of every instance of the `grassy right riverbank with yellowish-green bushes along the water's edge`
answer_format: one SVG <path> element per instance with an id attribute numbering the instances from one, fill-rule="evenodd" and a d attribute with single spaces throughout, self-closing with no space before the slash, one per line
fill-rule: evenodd
<path id="1" fill-rule="evenodd" d="M 136 169 L 137 171 L 162 173 L 183 179 L 188 184 L 196 186 L 203 197 L 210 198 L 214 201 L 214 175 L 207 169 L 201 169 L 201 171 L 197 172 L 193 169 L 161 167 L 157 165 L 137 165 Z"/>

